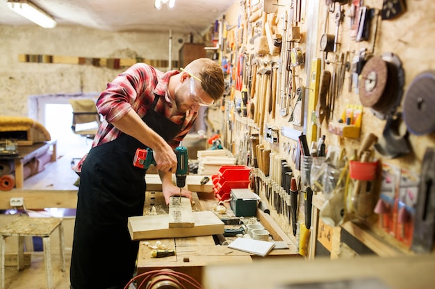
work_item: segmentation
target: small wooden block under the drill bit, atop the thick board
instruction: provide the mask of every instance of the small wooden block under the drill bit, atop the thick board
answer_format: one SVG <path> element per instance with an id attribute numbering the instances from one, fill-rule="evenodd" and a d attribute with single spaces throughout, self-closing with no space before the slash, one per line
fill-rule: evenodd
<path id="1" fill-rule="evenodd" d="M 170 197 L 169 200 L 169 227 L 192 228 L 195 226 L 192 205 L 188 198 Z"/>

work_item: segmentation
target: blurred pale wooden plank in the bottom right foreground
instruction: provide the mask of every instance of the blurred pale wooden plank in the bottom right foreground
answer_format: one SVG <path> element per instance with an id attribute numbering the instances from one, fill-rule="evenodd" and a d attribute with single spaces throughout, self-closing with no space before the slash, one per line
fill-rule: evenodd
<path id="1" fill-rule="evenodd" d="M 302 259 L 255 260 L 251 264 L 210 265 L 204 268 L 204 289 L 220 288 L 303 288 L 301 284 L 313 288 L 350 288 L 359 281 L 369 281 L 361 288 L 433 288 L 435 283 L 435 256 L 378 256 L 357 259 L 325 258 L 305 261 Z M 241 278 L 247 277 L 249 278 Z M 341 283 L 334 284 L 333 281 Z M 371 282 L 370 282 L 371 281 Z M 310 284 L 308 284 L 310 283 Z M 373 284 L 372 286 L 368 284 Z M 340 286 L 341 285 L 341 286 Z"/>

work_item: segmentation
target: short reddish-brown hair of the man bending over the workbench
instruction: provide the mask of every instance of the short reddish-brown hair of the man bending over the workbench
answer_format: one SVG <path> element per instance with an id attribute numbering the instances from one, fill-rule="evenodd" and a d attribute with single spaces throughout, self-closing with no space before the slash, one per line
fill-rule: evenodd
<path id="1" fill-rule="evenodd" d="M 193 60 L 186 70 L 201 79 L 201 87 L 214 100 L 222 97 L 225 90 L 224 71 L 220 65 L 208 58 Z"/>

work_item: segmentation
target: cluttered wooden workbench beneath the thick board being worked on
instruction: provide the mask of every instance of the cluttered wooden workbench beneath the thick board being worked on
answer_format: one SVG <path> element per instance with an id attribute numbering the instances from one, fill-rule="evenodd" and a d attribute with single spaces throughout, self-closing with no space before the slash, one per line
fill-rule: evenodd
<path id="1" fill-rule="evenodd" d="M 147 178 L 148 177 L 149 176 L 147 176 Z M 197 178 L 201 179 L 202 177 Z M 195 181 L 195 178 L 193 178 L 193 181 Z M 192 176 L 190 176 L 190 179 L 188 179 L 188 187 L 191 189 L 194 186 L 195 184 L 192 184 Z M 206 192 L 198 191 L 193 193 L 192 197 L 195 204 L 192 205 L 192 211 L 213 211 L 213 206 L 218 202 L 211 188 L 208 186 L 209 185 L 203 185 L 202 187 L 198 187 L 198 189 L 204 189 Z M 156 189 L 158 189 L 158 187 L 156 187 Z M 147 191 L 144 215 L 150 213 L 153 204 L 156 213 L 168 213 L 168 207 L 165 204 L 161 191 Z M 218 215 L 220 218 L 233 216 L 228 202 L 225 203 L 225 206 L 227 207 L 227 213 Z M 298 253 L 297 247 L 267 213 L 258 209 L 256 217 L 265 229 L 268 229 L 273 239 L 284 241 L 284 243 L 288 245 L 288 249 L 272 249 L 266 257 L 255 256 L 236 249 L 230 249 L 227 247 L 226 243 L 220 245 L 220 243 L 224 242 L 224 240 L 222 240 L 222 238 L 224 238 L 223 235 L 140 240 L 137 266 L 138 274 L 149 272 L 150 270 L 169 268 L 177 272 L 188 274 L 190 277 L 202 283 L 203 270 L 206 265 L 229 263 L 246 264 L 252 263 L 258 259 L 276 259 L 290 256 L 302 258 Z M 225 225 L 225 227 L 232 229 L 239 228 L 240 225 Z M 227 243 L 231 243 L 231 240 L 235 238 L 237 237 L 226 237 Z M 167 245 L 168 249 L 175 249 L 177 254 L 163 258 L 152 258 L 149 245 L 155 245 L 157 241 L 161 241 L 161 243 Z"/>

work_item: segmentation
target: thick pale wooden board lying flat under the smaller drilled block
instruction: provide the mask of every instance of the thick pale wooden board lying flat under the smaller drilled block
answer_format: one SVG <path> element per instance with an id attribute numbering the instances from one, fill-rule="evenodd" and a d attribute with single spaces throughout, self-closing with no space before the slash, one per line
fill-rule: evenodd
<path id="1" fill-rule="evenodd" d="M 211 211 L 194 212 L 195 227 L 170 228 L 169 215 L 138 216 L 129 218 L 132 240 L 206 236 L 224 233 L 224 223 Z"/>

